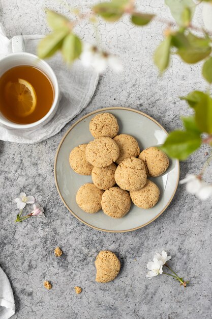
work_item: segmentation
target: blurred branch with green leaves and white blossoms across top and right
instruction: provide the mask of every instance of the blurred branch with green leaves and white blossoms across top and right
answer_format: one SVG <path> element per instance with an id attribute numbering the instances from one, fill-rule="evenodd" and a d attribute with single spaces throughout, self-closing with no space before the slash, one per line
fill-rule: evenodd
<path id="1" fill-rule="evenodd" d="M 98 16 L 112 23 L 121 19 L 124 15 L 128 15 L 131 22 L 136 26 L 145 26 L 155 19 L 166 24 L 164 40 L 159 44 L 154 54 L 154 62 L 160 74 L 169 67 L 171 56 L 175 54 L 188 64 L 204 61 L 202 76 L 211 85 L 212 33 L 206 32 L 203 28 L 192 23 L 196 6 L 204 2 L 212 6 L 212 0 L 201 0 L 197 4 L 193 0 L 165 0 L 165 4 L 170 8 L 175 21 L 164 20 L 152 13 L 138 12 L 134 0 L 101 2 L 93 6 L 92 11 L 87 14 L 75 10 L 76 18 L 72 20 L 48 10 L 47 21 L 52 33 L 40 42 L 38 55 L 41 58 L 48 58 L 55 54 L 57 50 L 60 50 L 64 60 L 68 63 L 80 58 L 85 66 L 91 65 L 100 73 L 107 66 L 115 71 L 120 71 L 122 65 L 118 57 L 102 51 L 97 45 L 83 43 L 74 33 L 76 24 L 86 18 L 89 21 L 96 21 Z M 194 34 L 194 31 L 198 32 L 199 35 Z M 202 144 L 212 146 L 212 98 L 209 91 L 193 91 L 182 99 L 188 102 L 194 115 L 183 117 L 184 129 L 171 132 L 161 148 L 170 157 L 184 161 Z M 201 179 L 198 176 L 196 177 L 202 181 L 202 176 Z M 209 184 L 209 186 L 212 189 L 212 185 Z M 194 193 L 196 194 L 196 192 Z"/>

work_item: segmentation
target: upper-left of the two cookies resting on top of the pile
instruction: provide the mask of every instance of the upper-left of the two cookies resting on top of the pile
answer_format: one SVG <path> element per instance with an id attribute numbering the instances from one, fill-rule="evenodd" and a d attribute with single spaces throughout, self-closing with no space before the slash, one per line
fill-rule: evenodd
<path id="1" fill-rule="evenodd" d="M 116 161 L 119 156 L 117 144 L 111 138 L 98 138 L 87 144 L 85 157 L 96 167 L 106 167 Z"/>

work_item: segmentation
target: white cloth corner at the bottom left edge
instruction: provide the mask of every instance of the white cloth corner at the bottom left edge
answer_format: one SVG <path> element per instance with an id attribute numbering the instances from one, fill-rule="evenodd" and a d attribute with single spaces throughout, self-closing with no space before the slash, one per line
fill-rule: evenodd
<path id="1" fill-rule="evenodd" d="M 0 319 L 8 319 L 15 313 L 15 302 L 10 282 L 0 268 Z"/>

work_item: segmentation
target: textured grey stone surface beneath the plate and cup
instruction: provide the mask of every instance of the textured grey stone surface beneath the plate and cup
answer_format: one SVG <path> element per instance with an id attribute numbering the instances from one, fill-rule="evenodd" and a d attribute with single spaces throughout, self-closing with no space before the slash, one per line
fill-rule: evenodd
<path id="1" fill-rule="evenodd" d="M 84 10 L 95 3 L 69 2 Z M 0 4 L 0 21 L 8 37 L 47 32 L 46 7 L 68 12 L 66 5 L 50 0 L 1 0 Z M 171 18 L 162 0 L 143 1 L 140 9 Z M 201 7 L 198 11 L 195 22 L 201 25 Z M 189 110 L 178 96 L 204 89 L 206 83 L 200 76 L 200 65 L 185 65 L 177 57 L 164 76 L 158 77 L 152 56 L 164 27 L 153 22 L 143 29 L 135 28 L 127 18 L 114 24 L 101 20 L 103 47 L 122 56 L 124 72 L 116 75 L 108 70 L 102 75 L 88 107 L 56 136 L 35 145 L 0 141 L 0 265 L 13 288 L 14 318 L 211 317 L 211 201 L 200 202 L 180 186 L 169 208 L 152 224 L 130 233 L 103 233 L 71 216 L 54 185 L 57 145 L 82 115 L 103 107 L 132 107 L 153 116 L 167 130 L 180 127 L 179 116 L 189 114 Z M 96 34 L 85 22 L 78 32 L 87 40 Z M 199 172 L 206 150 L 181 163 L 180 177 Z M 206 174 L 208 180 L 211 172 L 209 169 Z M 14 223 L 12 198 L 23 190 L 45 206 L 44 220 Z M 58 259 L 53 256 L 57 245 L 64 251 Z M 122 260 L 122 271 L 108 284 L 95 282 L 94 260 L 102 249 L 114 251 Z M 162 249 L 173 257 L 173 268 L 191 281 L 187 289 L 166 276 L 146 279 L 146 262 Z M 45 279 L 52 282 L 51 291 L 43 288 Z M 83 288 L 81 295 L 75 295 L 75 285 Z"/>

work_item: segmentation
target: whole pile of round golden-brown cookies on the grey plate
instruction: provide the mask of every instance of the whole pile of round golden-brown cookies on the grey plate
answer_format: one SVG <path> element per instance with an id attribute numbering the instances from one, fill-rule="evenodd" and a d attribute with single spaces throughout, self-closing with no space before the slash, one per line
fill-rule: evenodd
<path id="1" fill-rule="evenodd" d="M 75 147 L 69 156 L 71 168 L 80 175 L 92 175 L 93 180 L 79 188 L 79 207 L 90 214 L 102 208 L 112 218 L 124 217 L 131 200 L 140 208 L 154 207 L 160 191 L 147 176 L 157 177 L 167 170 L 167 155 L 157 147 L 140 152 L 134 137 L 118 135 L 118 122 L 110 113 L 93 117 L 89 130 L 95 139 Z"/>

